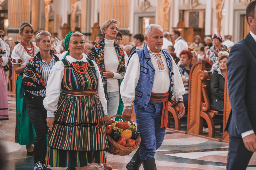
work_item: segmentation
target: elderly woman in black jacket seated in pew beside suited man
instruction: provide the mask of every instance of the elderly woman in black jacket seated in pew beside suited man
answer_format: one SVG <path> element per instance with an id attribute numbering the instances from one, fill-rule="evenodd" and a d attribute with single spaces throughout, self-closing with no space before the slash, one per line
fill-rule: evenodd
<path id="1" fill-rule="evenodd" d="M 218 111 L 224 109 L 224 86 L 227 75 L 227 55 L 219 57 L 219 68 L 212 73 L 210 81 L 210 104 Z"/>

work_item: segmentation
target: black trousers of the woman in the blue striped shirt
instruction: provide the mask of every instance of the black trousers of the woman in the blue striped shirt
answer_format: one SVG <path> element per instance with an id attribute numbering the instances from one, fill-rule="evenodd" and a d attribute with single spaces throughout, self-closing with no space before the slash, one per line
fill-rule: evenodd
<path id="1" fill-rule="evenodd" d="M 26 99 L 26 109 L 31 124 L 33 125 L 36 138 L 34 142 L 34 162 L 38 161 L 44 163 L 46 156 L 46 135 L 47 135 L 47 111 L 43 105 L 43 97 L 32 97 Z"/>

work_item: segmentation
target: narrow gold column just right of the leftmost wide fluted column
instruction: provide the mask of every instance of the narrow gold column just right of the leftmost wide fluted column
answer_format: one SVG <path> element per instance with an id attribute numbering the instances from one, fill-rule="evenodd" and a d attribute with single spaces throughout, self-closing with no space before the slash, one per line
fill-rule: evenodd
<path id="1" fill-rule="evenodd" d="M 39 0 L 31 1 L 31 25 L 35 31 L 38 31 L 38 16 L 39 16 Z"/>

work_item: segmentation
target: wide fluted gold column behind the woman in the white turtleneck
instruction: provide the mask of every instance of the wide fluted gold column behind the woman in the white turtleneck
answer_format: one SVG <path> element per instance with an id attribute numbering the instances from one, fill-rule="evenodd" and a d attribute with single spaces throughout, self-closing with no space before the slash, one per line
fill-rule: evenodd
<path id="1" fill-rule="evenodd" d="M 100 0 L 99 26 L 109 19 L 116 19 L 120 22 L 119 31 L 123 34 L 123 44 L 129 43 L 129 0 Z"/>

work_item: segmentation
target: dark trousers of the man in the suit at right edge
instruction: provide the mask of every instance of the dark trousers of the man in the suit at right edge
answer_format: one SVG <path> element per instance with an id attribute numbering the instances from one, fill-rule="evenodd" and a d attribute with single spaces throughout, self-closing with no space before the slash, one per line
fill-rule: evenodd
<path id="1" fill-rule="evenodd" d="M 246 149 L 242 138 L 229 136 L 227 170 L 246 170 L 252 154 Z"/>

